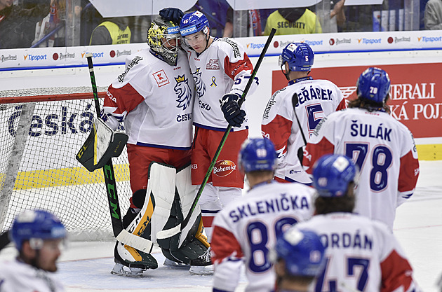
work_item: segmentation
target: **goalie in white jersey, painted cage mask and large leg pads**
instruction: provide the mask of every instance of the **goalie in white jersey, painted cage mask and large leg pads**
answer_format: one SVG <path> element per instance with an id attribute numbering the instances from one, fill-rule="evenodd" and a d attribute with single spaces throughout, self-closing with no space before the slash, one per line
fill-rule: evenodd
<path id="1" fill-rule="evenodd" d="M 190 163 L 194 80 L 186 53 L 181 50 L 179 42 L 178 25 L 156 18 L 148 31 L 149 48 L 130 56 L 126 62 L 126 71 L 109 86 L 102 110 L 102 119 L 112 130 L 124 122 L 128 134 L 127 151 L 133 197 L 130 198 L 130 208 L 123 218 L 123 228 L 134 235 L 152 239 L 153 242 L 157 239 L 154 231 L 173 228 L 174 225 L 170 222 L 166 223 L 167 226 L 154 225 L 155 222 L 165 222 L 156 218 L 168 218 L 169 212 L 170 217 L 174 218 L 186 216 L 176 213 L 177 208 L 182 209 L 182 201 L 177 204 L 174 197 L 156 197 L 166 195 L 165 192 L 154 192 L 154 198 L 152 193 L 146 192 L 148 186 L 153 188 L 154 184 L 175 181 L 175 177 L 158 175 L 154 176 L 156 180 L 149 179 L 148 182 L 148 177 L 152 176 L 149 167 L 151 162 L 177 169 Z M 190 178 L 188 181 L 190 185 Z M 172 190 L 171 195 L 174 193 Z M 194 198 L 192 196 L 191 202 Z M 166 204 L 160 206 L 160 203 Z M 194 211 L 200 212 L 199 209 Z M 185 250 L 189 253 L 195 247 L 199 251 L 208 250 L 208 242 L 201 235 L 201 228 L 202 224 L 196 223 L 198 230 L 195 236 L 201 244 L 194 241 L 192 248 L 187 246 Z M 161 248 L 167 258 L 166 263 L 170 263 L 170 260 L 189 263 L 188 256 L 182 253 L 183 249 L 174 254 L 167 246 Z M 116 264 L 112 274 L 142 277 L 143 270 L 158 266 L 150 253 L 121 242 L 116 242 L 114 255 Z M 203 265 L 210 264 L 210 259 L 203 262 Z"/>

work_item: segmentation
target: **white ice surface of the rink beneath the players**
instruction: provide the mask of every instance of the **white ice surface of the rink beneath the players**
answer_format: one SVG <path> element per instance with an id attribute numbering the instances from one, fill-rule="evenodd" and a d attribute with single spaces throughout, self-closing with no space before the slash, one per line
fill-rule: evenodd
<path id="1" fill-rule="evenodd" d="M 442 274 L 442 161 L 421 161 L 420 178 L 411 199 L 397 209 L 394 234 L 415 271 L 422 291 L 436 292 Z M 57 277 L 69 292 L 84 291 L 211 291 L 211 276 L 191 275 L 187 270 L 163 267 L 161 252 L 154 249 L 159 268 L 144 277 L 131 279 L 110 274 L 114 242 L 71 242 L 58 263 Z M 0 253 L 0 260 L 12 258 L 12 246 Z M 244 291 L 246 279 L 236 291 Z"/>

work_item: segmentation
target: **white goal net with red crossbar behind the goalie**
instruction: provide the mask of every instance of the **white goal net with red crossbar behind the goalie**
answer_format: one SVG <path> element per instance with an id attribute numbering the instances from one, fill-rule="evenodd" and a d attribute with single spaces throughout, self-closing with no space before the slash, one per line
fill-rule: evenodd
<path id="1" fill-rule="evenodd" d="M 98 88 L 104 97 L 106 88 Z M 100 98 L 102 105 L 102 98 Z M 56 214 L 74 239 L 110 239 L 102 169 L 75 155 L 96 116 L 91 88 L 0 91 L 0 230 L 24 209 Z M 131 195 L 126 150 L 113 158 L 121 212 Z"/>

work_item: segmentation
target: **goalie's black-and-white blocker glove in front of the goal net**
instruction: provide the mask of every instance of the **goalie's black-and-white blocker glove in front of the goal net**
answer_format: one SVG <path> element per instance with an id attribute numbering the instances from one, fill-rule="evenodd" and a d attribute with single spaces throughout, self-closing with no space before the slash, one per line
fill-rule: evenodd
<path id="1" fill-rule="evenodd" d="M 101 118 L 95 118 L 93 130 L 75 158 L 93 172 L 104 167 L 112 157 L 118 157 L 127 141 L 128 135 L 114 132 Z"/>

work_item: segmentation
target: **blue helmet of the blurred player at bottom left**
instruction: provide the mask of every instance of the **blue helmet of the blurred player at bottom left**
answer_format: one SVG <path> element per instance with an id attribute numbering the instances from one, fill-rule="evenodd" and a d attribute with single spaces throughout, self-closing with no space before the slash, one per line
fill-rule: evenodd
<path id="1" fill-rule="evenodd" d="M 20 250 L 25 240 L 65 238 L 66 229 L 60 220 L 48 211 L 25 210 L 15 217 L 9 236 Z"/>

